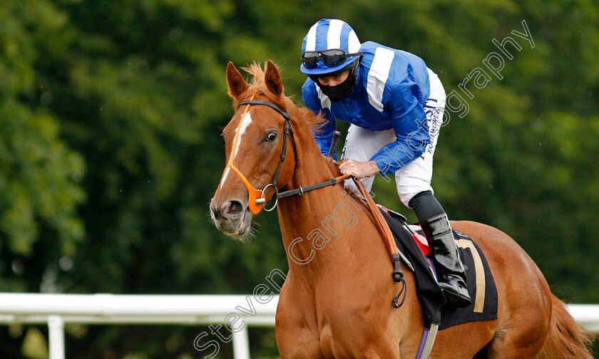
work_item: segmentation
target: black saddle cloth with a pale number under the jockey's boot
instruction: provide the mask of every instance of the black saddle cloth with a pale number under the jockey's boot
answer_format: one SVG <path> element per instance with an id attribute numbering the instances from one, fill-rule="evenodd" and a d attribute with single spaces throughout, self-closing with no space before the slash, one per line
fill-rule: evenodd
<path id="1" fill-rule="evenodd" d="M 426 258 L 409 231 L 381 209 L 395 243 L 414 267 L 416 294 L 428 324 L 439 324 L 439 330 L 473 321 L 492 321 L 497 318 L 497 287 L 493 274 L 480 247 L 466 234 L 454 229 L 454 239 L 466 269 L 466 286 L 472 303 L 465 308 L 448 305 L 441 288 L 429 270 Z M 405 266 L 404 268 L 405 269 Z M 410 285 L 410 283 L 406 283 Z"/>

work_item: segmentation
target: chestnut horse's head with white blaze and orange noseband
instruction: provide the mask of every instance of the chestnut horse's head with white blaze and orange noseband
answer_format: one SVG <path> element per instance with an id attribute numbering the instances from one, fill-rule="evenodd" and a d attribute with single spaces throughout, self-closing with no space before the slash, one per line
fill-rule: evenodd
<path id="1" fill-rule="evenodd" d="M 295 141 L 290 135 L 287 108 L 297 108 L 283 94 L 277 66 L 268 61 L 265 71 L 253 64 L 248 85 L 237 68 L 227 66 L 229 94 L 235 115 L 222 131 L 227 167 L 222 173 L 210 216 L 217 229 L 229 236 L 248 234 L 252 216 L 287 183 L 295 171 Z M 287 159 L 287 160 L 285 160 Z"/>

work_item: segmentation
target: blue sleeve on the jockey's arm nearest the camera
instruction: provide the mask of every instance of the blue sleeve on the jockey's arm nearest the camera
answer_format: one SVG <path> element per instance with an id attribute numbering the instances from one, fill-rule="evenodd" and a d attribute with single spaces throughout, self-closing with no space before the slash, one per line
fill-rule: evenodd
<path id="1" fill-rule="evenodd" d="M 416 86 L 416 83 L 413 83 L 404 87 L 403 91 L 396 91 L 388 102 L 389 115 L 394 118 L 396 140 L 384 146 L 371 158 L 379 165 L 382 176 L 394 173 L 416 160 L 431 141 L 424 108 L 414 96 Z"/>

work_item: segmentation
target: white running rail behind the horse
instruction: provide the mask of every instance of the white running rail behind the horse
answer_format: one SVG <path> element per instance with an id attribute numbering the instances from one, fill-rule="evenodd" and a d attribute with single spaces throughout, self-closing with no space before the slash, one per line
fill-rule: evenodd
<path id="1" fill-rule="evenodd" d="M 65 323 L 91 325 L 230 323 L 235 359 L 249 359 L 247 326 L 275 326 L 279 296 L 0 293 L 0 325 L 47 324 L 50 359 L 64 359 Z M 257 299 L 261 299 L 257 301 Z M 599 305 L 568 306 L 575 321 L 599 333 Z M 230 321 L 230 318 L 241 319 Z M 242 323 L 247 324 L 241 326 Z M 224 333 L 228 333 L 223 328 Z M 200 333 L 198 333 L 200 334 Z M 208 341 L 208 340 L 205 340 Z M 190 343 L 193 345 L 194 343 Z"/>

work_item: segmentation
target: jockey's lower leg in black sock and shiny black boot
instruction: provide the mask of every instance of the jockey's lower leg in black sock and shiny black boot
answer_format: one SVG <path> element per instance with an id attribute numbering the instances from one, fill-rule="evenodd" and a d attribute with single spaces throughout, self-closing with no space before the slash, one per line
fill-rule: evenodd
<path id="1" fill-rule="evenodd" d="M 456 307 L 469 306 L 471 299 L 466 288 L 466 274 L 445 210 L 431 191 L 416 194 L 410 199 L 409 207 L 416 212 L 424 235 L 433 247 L 439 286 L 447 301 Z"/>

